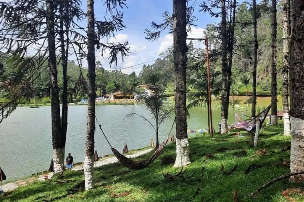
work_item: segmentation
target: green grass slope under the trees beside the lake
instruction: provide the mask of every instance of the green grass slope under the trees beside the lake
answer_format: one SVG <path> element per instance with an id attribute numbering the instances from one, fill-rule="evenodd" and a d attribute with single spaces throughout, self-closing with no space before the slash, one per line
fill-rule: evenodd
<path id="1" fill-rule="evenodd" d="M 281 123 L 281 122 L 280 122 Z M 239 201 L 288 201 L 282 191 L 290 187 L 301 187 L 301 184 L 281 180 L 255 197 L 250 193 L 266 181 L 282 174 L 289 173 L 289 167 L 280 164 L 280 159 L 289 161 L 290 151 L 282 151 L 290 146 L 290 137 L 282 135 L 282 125 L 264 126 L 261 130 L 258 148 L 252 148 L 252 137 L 241 133 L 244 137 L 216 134 L 215 139 L 209 135 L 197 135 L 189 139 L 191 164 L 184 167 L 184 172 L 175 180 L 164 179 L 162 173 L 178 174 L 180 168 L 173 168 L 175 144 L 169 144 L 164 152 L 150 167 L 132 171 L 120 163 L 95 168 L 95 188 L 83 191 L 84 175 L 82 171 L 65 172 L 59 177 L 43 182 L 34 182 L 20 187 L 0 201 L 233 201 L 233 191 L 238 190 Z M 242 146 L 247 154 L 239 156 L 242 150 L 219 152 L 221 147 L 232 148 Z M 258 149 L 266 149 L 265 155 L 253 155 Z M 276 153 L 275 153 L 276 152 Z M 215 158 L 206 157 L 212 153 Z M 151 154 L 151 153 L 150 153 Z M 137 159 L 147 158 L 150 154 Z M 167 157 L 167 161 L 164 161 Z M 245 170 L 250 164 L 262 164 L 249 174 Z M 238 164 L 237 170 L 224 175 Z M 202 169 L 204 167 L 204 169 Z M 57 182 L 56 182 L 57 181 Z M 302 184 L 303 185 L 303 184 Z M 290 195 L 296 201 L 304 201 L 301 195 Z"/>

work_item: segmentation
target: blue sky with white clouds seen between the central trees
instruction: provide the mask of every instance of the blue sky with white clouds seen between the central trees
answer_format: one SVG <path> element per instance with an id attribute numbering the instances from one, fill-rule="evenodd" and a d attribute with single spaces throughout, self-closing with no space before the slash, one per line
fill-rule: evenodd
<path id="1" fill-rule="evenodd" d="M 103 5 L 104 1 L 96 0 L 94 4 L 95 8 L 95 18 L 104 19 L 106 9 Z M 189 1 L 192 4 L 194 0 Z M 200 38 L 203 36 L 203 30 L 209 23 L 219 22 L 220 19 L 211 18 L 209 14 L 198 12 L 200 1 L 196 1 L 195 13 L 197 17 L 196 27 L 192 28 L 192 33 L 190 37 Z M 129 56 L 124 58 L 124 62 L 119 59 L 118 65 L 112 65 L 111 69 L 121 69 L 129 66 L 134 66 L 143 62 L 155 60 L 158 55 L 165 51 L 173 42 L 173 36 L 168 35 L 168 30 L 162 33 L 161 38 L 157 41 L 150 42 L 145 39 L 144 29 L 150 28 L 150 23 L 155 21 L 157 23 L 162 21 L 162 13 L 168 11 L 172 13 L 172 0 L 127 0 L 126 4 L 128 8 L 120 9 L 124 13 L 124 23 L 126 28 L 119 33 L 116 33 L 116 39 L 108 39 L 111 42 L 129 42 L 129 47 L 131 53 Z M 86 1 L 82 2 L 82 8 L 86 11 Z M 109 17 L 109 13 L 106 15 Z M 81 25 L 85 25 L 82 22 Z M 197 47 L 203 47 L 202 43 L 196 42 Z M 110 69 L 108 64 L 108 57 L 100 57 L 100 52 L 96 52 L 96 59 L 101 61 L 105 69 Z M 86 61 L 82 63 L 86 66 Z M 152 62 L 147 62 L 146 64 L 153 64 Z M 140 72 L 142 65 L 134 66 L 132 68 L 127 68 L 122 70 L 124 73 L 131 73 L 135 71 L 137 74 Z"/>

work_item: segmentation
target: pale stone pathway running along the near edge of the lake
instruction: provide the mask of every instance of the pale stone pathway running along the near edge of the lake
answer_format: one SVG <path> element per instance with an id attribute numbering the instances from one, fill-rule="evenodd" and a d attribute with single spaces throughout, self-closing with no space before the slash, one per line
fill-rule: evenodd
<path id="1" fill-rule="evenodd" d="M 148 150 L 136 152 L 136 153 L 133 153 L 133 154 L 130 154 L 130 155 L 126 155 L 126 157 L 128 157 L 128 158 L 139 157 L 139 156 L 142 156 L 143 154 L 149 153 L 152 150 L 153 149 L 148 149 Z M 116 157 L 110 157 L 110 158 L 106 158 L 104 160 L 100 160 L 100 161 L 95 162 L 94 167 L 101 167 L 103 165 L 116 163 L 116 162 L 118 162 L 118 159 Z M 82 166 L 72 168 L 72 170 L 82 170 Z M 47 175 L 48 175 L 48 178 L 53 177 L 53 173 L 48 173 Z M 39 175 L 38 177 L 31 177 L 31 178 L 24 179 L 24 180 L 18 180 L 14 183 L 7 183 L 5 185 L 2 185 L 2 190 L 4 192 L 12 191 L 12 190 L 14 190 L 18 187 L 26 186 L 27 184 L 30 184 L 30 183 L 34 182 L 35 180 L 43 181 L 44 177 L 43 177 L 43 175 Z"/>

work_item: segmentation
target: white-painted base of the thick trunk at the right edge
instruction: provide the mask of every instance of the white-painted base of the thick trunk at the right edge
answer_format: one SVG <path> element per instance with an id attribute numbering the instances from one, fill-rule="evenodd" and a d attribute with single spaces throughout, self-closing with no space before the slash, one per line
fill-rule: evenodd
<path id="1" fill-rule="evenodd" d="M 290 117 L 291 122 L 291 149 L 290 172 L 304 171 L 304 120 Z M 290 177 L 293 182 L 303 182 L 304 175 Z"/>

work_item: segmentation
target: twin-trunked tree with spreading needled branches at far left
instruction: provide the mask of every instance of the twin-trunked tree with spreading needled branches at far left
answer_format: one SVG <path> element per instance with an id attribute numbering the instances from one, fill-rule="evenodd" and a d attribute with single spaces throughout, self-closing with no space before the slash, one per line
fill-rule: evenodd
<path id="1" fill-rule="evenodd" d="M 59 9 L 58 9 L 59 6 Z M 71 44 L 68 38 L 70 26 L 75 25 L 73 18 L 81 19 L 84 13 L 79 8 L 78 0 L 67 0 L 57 4 L 54 1 L 16 1 L 2 4 L 2 29 L 1 48 L 7 50 L 5 55 L 19 55 L 18 64 L 15 62 L 16 69 L 19 69 L 16 78 L 22 78 L 18 84 L 22 89 L 17 90 L 16 83 L 14 89 L 9 90 L 10 100 L 1 106 L 6 109 L 8 115 L 20 101 L 26 97 L 27 88 L 36 82 L 43 71 L 50 72 L 50 94 L 51 94 L 51 116 L 52 116 L 52 143 L 54 171 L 61 173 L 64 170 L 64 148 L 67 131 L 67 55 L 68 47 Z M 26 9 L 24 9 L 26 8 Z M 60 15 L 57 15 L 57 12 Z M 59 22 L 59 25 L 58 25 Z M 74 37 L 75 33 L 71 35 Z M 62 117 L 60 118 L 59 88 L 57 66 L 59 58 L 56 55 L 56 44 L 59 34 L 61 46 L 61 63 L 63 66 L 63 107 Z M 74 37 L 77 40 L 78 37 Z M 48 42 L 48 45 L 45 43 Z M 6 45 L 9 44 L 9 45 Z M 27 56 L 27 49 L 32 46 L 38 47 L 34 56 Z M 47 57 L 48 55 L 48 57 Z M 48 59 L 48 65 L 46 64 Z M 23 62 L 22 62 L 23 61 Z M 40 61 L 40 62 L 38 62 Z M 20 71 L 21 70 L 21 71 Z M 22 73 L 20 73 L 22 72 Z M 38 75 L 38 76 L 37 76 Z M 8 86 L 7 86 L 8 87 Z M 16 91 L 17 90 L 17 91 Z"/>

